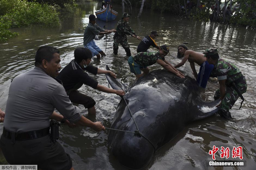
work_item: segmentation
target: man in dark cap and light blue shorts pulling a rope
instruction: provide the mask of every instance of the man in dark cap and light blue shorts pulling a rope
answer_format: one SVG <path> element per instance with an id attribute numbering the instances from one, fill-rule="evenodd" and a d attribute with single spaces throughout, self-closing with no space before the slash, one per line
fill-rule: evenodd
<path id="1" fill-rule="evenodd" d="M 109 34 L 115 32 L 116 30 L 104 30 L 96 24 L 95 15 L 89 15 L 89 24 L 84 31 L 84 47 L 88 48 L 92 52 L 92 56 L 97 56 L 97 59 L 100 59 L 101 56 L 106 54 L 95 44 L 96 35 Z"/>

